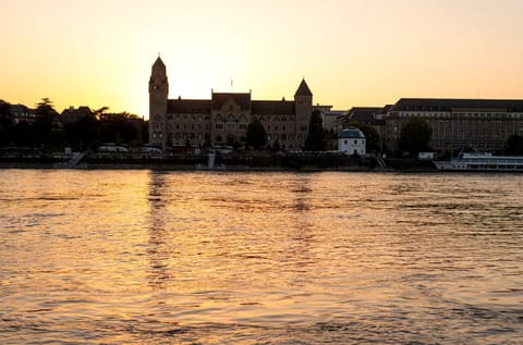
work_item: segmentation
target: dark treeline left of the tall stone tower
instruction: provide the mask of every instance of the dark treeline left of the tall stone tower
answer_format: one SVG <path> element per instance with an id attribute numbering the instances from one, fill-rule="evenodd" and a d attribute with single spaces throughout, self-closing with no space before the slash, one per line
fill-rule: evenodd
<path id="1" fill-rule="evenodd" d="M 139 146 L 147 143 L 147 123 L 108 108 L 66 109 L 58 113 L 44 98 L 35 109 L 0 100 L 0 146 L 75 150 L 96 149 L 102 143 Z"/>

